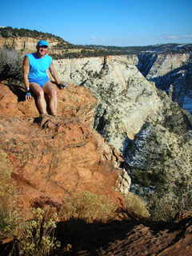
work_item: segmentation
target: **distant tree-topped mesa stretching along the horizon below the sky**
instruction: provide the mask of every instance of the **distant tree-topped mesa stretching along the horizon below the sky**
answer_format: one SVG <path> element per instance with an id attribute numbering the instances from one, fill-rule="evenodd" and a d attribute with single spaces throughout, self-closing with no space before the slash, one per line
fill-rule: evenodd
<path id="1" fill-rule="evenodd" d="M 38 30 L 18 29 L 11 26 L 0 26 L 0 49 L 8 48 L 20 50 L 26 54 L 35 49 L 39 39 L 45 38 L 50 42 L 50 54 L 56 58 L 84 58 L 107 55 L 127 54 L 160 54 L 160 53 L 187 53 L 191 52 L 192 44 L 167 43 L 152 46 L 97 46 L 74 45 L 54 34 Z"/>

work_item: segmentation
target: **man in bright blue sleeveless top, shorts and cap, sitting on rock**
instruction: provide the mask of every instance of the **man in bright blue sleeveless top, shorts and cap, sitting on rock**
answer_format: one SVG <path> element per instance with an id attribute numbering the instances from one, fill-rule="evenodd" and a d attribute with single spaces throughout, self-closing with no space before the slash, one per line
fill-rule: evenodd
<path id="1" fill-rule="evenodd" d="M 30 91 L 37 97 L 37 107 L 40 114 L 46 112 L 46 98 L 48 96 L 48 104 L 50 114 L 57 114 L 57 88 L 54 83 L 50 82 L 47 76 L 47 70 L 54 78 L 54 81 L 61 89 L 66 86 L 62 84 L 58 78 L 58 74 L 54 69 L 52 58 L 47 54 L 49 43 L 46 40 L 38 41 L 37 51 L 33 54 L 26 54 L 23 65 L 23 80 L 26 86 L 26 99 L 31 98 Z"/>

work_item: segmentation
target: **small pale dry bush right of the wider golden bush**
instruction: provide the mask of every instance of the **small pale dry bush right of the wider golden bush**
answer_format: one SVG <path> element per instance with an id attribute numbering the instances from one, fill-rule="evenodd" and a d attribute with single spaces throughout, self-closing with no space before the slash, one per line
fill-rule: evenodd
<path id="1" fill-rule="evenodd" d="M 150 217 L 149 211 L 146 209 L 146 203 L 142 201 L 138 195 L 129 192 L 125 197 L 126 210 L 133 212 L 144 218 Z"/>

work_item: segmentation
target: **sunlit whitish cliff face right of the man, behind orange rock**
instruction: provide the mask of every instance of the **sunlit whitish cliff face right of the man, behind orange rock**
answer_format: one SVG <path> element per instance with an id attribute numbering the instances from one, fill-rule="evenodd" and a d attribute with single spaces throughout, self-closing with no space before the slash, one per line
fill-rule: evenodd
<path id="1" fill-rule="evenodd" d="M 148 118 L 162 107 L 153 82 L 134 65 L 136 55 L 58 60 L 54 64 L 66 82 L 86 86 L 98 98 L 94 128 L 122 150 Z"/>

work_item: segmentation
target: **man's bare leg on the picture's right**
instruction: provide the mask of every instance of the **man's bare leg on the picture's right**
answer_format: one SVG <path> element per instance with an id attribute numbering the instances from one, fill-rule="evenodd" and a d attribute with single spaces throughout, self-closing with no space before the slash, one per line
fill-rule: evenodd
<path id="1" fill-rule="evenodd" d="M 57 98 L 57 89 L 52 82 L 46 82 L 46 85 L 43 86 L 45 94 L 49 96 L 49 107 L 52 115 L 57 114 L 58 108 L 58 98 Z"/>

